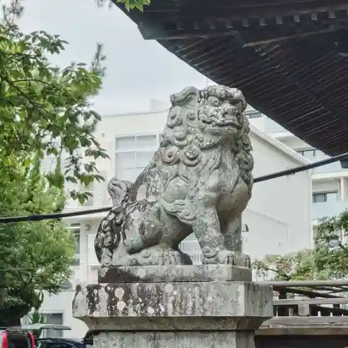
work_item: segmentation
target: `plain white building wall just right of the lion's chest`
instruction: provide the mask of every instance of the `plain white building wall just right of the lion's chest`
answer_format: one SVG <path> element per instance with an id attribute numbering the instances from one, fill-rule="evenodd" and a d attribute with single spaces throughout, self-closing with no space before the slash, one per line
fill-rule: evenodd
<path id="1" fill-rule="evenodd" d="M 251 135 L 254 177 L 301 165 L 274 145 Z M 307 171 L 255 183 L 244 213 L 249 232 L 244 251 L 251 258 L 267 253 L 289 253 L 312 245 L 310 228 L 310 175 Z"/>

